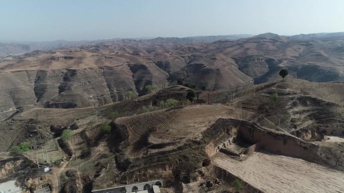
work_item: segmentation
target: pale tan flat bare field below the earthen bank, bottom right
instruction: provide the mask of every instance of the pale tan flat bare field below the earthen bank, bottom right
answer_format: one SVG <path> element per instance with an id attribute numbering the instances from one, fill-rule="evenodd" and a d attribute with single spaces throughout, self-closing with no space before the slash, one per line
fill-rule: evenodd
<path id="1" fill-rule="evenodd" d="M 254 152 L 245 161 L 218 153 L 214 163 L 264 192 L 344 192 L 344 172 L 303 159 Z"/>

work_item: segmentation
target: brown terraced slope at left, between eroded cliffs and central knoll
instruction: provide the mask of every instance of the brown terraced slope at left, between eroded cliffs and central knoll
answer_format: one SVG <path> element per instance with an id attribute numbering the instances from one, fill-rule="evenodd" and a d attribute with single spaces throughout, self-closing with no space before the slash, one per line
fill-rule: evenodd
<path id="1" fill-rule="evenodd" d="M 118 111 L 120 116 L 128 116 L 142 113 L 145 109 L 159 109 L 158 106 L 150 105 L 158 105 L 158 101 L 165 101 L 169 98 L 185 99 L 187 90 L 184 86 L 173 86 L 152 91 L 152 93 L 135 100 L 83 108 L 42 108 L 28 105 L 19 109 L 6 120 L 0 121 L 0 131 L 7 136 L 0 142 L 0 147 L 7 150 L 23 140 L 40 145 L 51 139 L 53 135 L 59 135 L 64 128 L 75 129 L 75 125 L 85 124 L 82 123 L 82 120 L 108 120 L 108 114 L 113 111 Z M 80 121 L 81 123 L 79 123 Z"/>

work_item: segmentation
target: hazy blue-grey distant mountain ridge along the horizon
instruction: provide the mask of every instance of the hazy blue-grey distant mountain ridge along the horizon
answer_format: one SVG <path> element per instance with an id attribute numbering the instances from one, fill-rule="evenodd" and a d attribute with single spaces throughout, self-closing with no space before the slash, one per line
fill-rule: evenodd
<path id="1" fill-rule="evenodd" d="M 235 41 L 239 39 L 246 39 L 246 38 L 278 38 L 281 41 L 285 41 L 286 39 L 292 40 L 315 40 L 315 39 L 344 39 L 344 32 L 336 32 L 336 33 L 314 33 L 314 34 L 299 34 L 293 36 L 280 36 L 274 33 L 265 33 L 260 35 L 249 35 L 249 34 L 237 34 L 237 35 L 219 35 L 219 36 L 192 36 L 192 37 L 157 37 L 157 38 L 114 38 L 114 39 L 105 39 L 105 40 L 94 40 L 94 41 L 65 41 L 65 40 L 57 40 L 57 41 L 50 41 L 50 42 L 0 42 L 0 57 L 5 57 L 9 55 L 18 55 L 24 54 L 28 52 L 32 52 L 35 50 L 42 50 L 42 51 L 49 51 L 64 47 L 77 47 L 77 46 L 84 46 L 84 45 L 95 45 L 99 43 L 106 43 L 106 42 L 113 42 L 113 41 L 138 41 L 141 43 L 149 43 L 149 44 L 162 44 L 165 46 L 172 46 L 172 45 L 191 45 L 191 44 L 198 44 L 198 43 L 213 43 L 216 41 Z"/>

